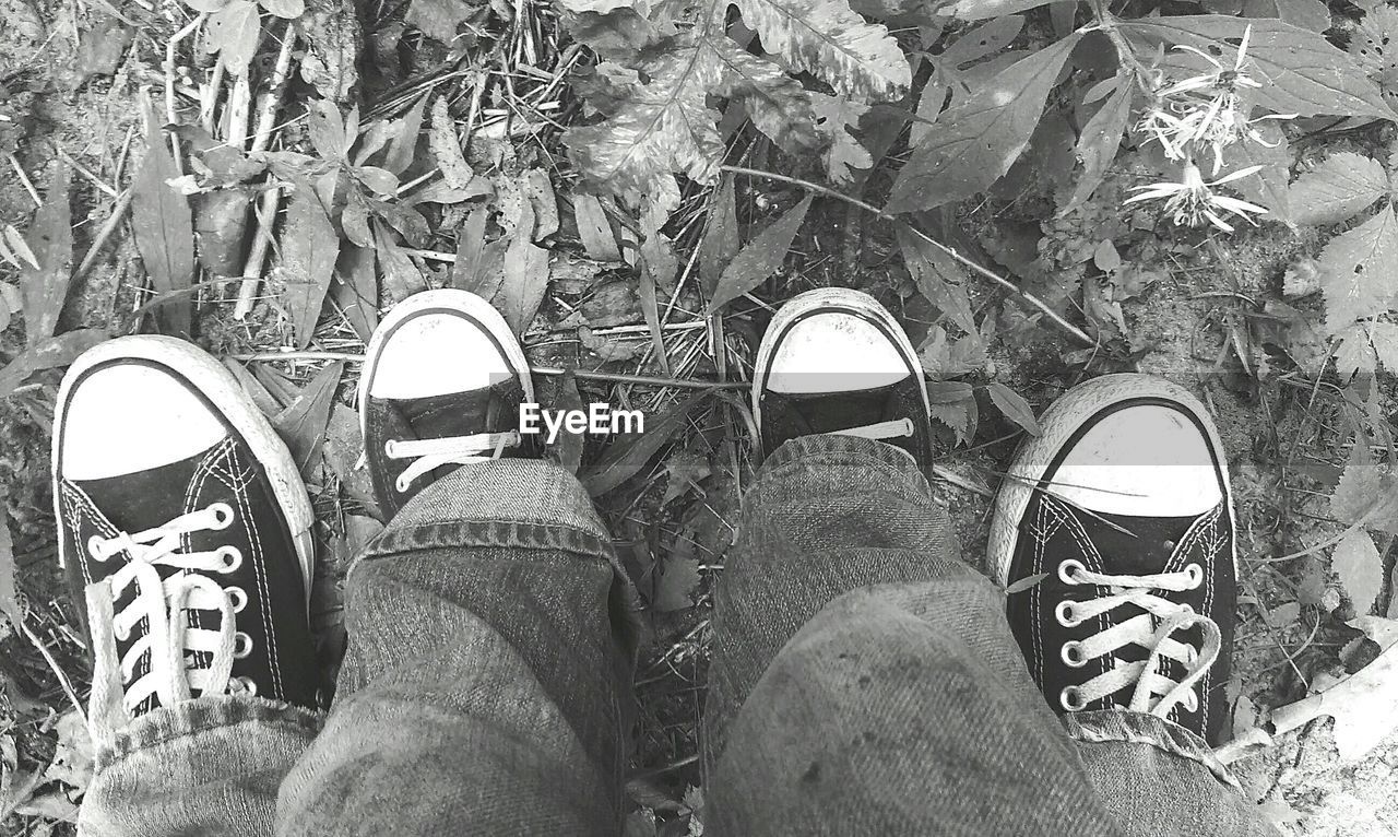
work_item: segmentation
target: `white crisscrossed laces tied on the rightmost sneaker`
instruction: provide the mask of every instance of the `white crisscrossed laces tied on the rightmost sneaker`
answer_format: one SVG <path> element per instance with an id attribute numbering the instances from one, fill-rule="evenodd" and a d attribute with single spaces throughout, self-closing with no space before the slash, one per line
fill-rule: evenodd
<path id="1" fill-rule="evenodd" d="M 1179 572 L 1156 572 L 1153 575 L 1110 575 L 1093 572 L 1079 561 L 1068 560 L 1060 564 L 1058 578 L 1072 585 L 1106 586 L 1110 595 L 1086 602 L 1060 602 L 1054 617 L 1064 627 L 1082 624 L 1123 605 L 1135 605 L 1145 613 L 1097 631 L 1086 640 L 1068 641 L 1061 647 L 1064 663 L 1082 668 L 1089 661 L 1111 656 L 1111 668 L 1092 677 L 1082 686 L 1069 686 L 1060 693 L 1060 703 L 1068 711 L 1078 711 L 1095 700 L 1114 694 L 1127 686 L 1135 686 L 1127 708 L 1135 712 L 1151 712 L 1165 718 L 1172 708 L 1183 705 L 1186 711 L 1198 708 L 1194 684 L 1209 670 L 1222 648 L 1219 626 L 1212 619 L 1195 613 L 1188 605 L 1172 602 L 1152 591 L 1183 592 L 1195 589 L 1204 582 L 1204 568 L 1190 564 Z M 1202 649 L 1172 638 L 1176 631 L 1199 626 L 1204 634 Z M 1127 662 L 1116 658 L 1116 652 L 1127 645 L 1138 645 L 1149 652 L 1141 662 Z M 1159 673 L 1160 659 L 1179 662 L 1186 676 L 1179 682 Z"/>

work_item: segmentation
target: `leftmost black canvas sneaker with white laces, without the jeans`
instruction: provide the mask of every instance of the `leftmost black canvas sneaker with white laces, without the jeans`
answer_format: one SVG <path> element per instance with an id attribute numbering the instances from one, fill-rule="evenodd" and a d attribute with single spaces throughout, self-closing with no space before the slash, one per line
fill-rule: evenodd
<path id="1" fill-rule="evenodd" d="M 310 501 L 217 360 L 157 336 L 82 354 L 55 407 L 53 511 L 99 724 L 222 693 L 316 705 Z"/>

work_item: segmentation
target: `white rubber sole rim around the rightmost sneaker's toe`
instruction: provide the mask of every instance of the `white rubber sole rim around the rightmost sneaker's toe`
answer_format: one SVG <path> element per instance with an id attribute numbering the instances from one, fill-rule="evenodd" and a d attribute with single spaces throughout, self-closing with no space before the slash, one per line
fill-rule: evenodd
<path id="1" fill-rule="evenodd" d="M 986 567 L 991 578 L 1001 586 L 1011 582 L 1009 565 L 1019 540 L 1019 521 L 1029 508 L 1029 500 L 1037 490 L 1048 465 L 1069 438 L 1103 409 L 1137 398 L 1158 398 L 1173 402 L 1180 410 L 1191 413 L 1204 427 L 1209 448 L 1222 465 L 1223 498 L 1227 504 L 1229 521 L 1236 537 L 1237 525 L 1233 512 L 1233 493 L 1229 486 L 1227 456 L 1213 418 L 1199 399 L 1187 389 L 1153 375 L 1121 372 L 1103 375 L 1074 386 L 1039 417 L 1043 432 L 1026 439 L 1000 484 L 995 497 L 995 514 L 990 519 L 990 539 L 986 544 Z M 1237 549 L 1233 549 L 1234 572 L 1237 570 Z"/>

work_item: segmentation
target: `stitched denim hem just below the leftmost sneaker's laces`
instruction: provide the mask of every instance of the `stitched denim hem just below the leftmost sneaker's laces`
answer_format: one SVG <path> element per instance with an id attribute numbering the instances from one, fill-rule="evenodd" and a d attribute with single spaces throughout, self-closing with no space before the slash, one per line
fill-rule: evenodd
<path id="1" fill-rule="evenodd" d="M 94 767 L 101 773 L 138 750 L 229 726 L 246 726 L 249 740 L 260 739 L 253 735 L 253 729 L 260 728 L 305 738 L 309 743 L 320 732 L 324 719 L 324 712 L 264 697 L 246 694 L 197 697 L 145 712 L 117 731 L 110 740 L 98 742 Z"/>

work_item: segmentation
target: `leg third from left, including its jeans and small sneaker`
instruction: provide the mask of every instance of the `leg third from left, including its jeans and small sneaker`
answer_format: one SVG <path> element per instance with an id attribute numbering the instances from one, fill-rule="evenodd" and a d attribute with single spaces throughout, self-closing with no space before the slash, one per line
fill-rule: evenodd
<path id="1" fill-rule="evenodd" d="M 768 335 L 754 398 L 774 453 L 716 589 L 706 827 L 1111 833 L 921 473 L 928 407 L 898 325 L 822 291 Z"/>

